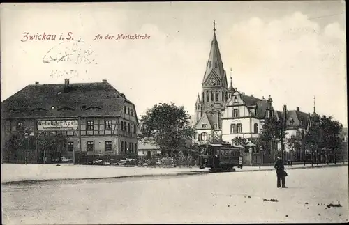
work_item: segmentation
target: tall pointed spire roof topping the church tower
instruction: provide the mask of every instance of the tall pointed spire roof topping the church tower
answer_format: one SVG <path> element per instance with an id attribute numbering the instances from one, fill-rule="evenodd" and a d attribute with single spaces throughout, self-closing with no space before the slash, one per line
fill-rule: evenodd
<path id="1" fill-rule="evenodd" d="M 209 51 L 209 59 L 207 61 L 207 67 L 205 76 L 202 82 L 205 82 L 207 77 L 214 72 L 221 82 L 226 84 L 226 76 L 223 68 L 223 62 L 221 59 L 221 52 L 219 51 L 218 41 L 216 38 L 216 23 L 214 22 L 214 37 L 211 42 L 211 49 Z"/>

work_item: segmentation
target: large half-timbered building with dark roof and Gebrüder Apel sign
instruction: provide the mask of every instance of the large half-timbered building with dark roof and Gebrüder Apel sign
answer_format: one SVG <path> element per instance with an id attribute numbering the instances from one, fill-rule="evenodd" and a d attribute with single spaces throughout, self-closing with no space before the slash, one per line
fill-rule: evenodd
<path id="1" fill-rule="evenodd" d="M 1 150 L 20 127 L 45 139 L 63 134 L 68 143 L 58 149 L 73 158 L 85 155 L 137 155 L 138 118 L 135 105 L 107 80 L 96 83 L 28 85 L 1 102 Z M 50 162 L 39 144 L 29 146 L 38 162 Z M 47 159 L 48 158 L 48 159 Z"/>

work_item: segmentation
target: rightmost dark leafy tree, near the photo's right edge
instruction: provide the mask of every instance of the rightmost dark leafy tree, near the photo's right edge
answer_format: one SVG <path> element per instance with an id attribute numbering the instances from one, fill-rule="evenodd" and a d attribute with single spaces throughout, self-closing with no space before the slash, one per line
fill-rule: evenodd
<path id="1" fill-rule="evenodd" d="M 341 148 L 341 130 L 343 125 L 339 121 L 334 121 L 331 116 L 322 116 L 320 119 L 321 143 L 320 146 L 326 148 L 328 164 L 328 151 L 334 153 L 334 163 L 336 164 L 336 149 Z"/>

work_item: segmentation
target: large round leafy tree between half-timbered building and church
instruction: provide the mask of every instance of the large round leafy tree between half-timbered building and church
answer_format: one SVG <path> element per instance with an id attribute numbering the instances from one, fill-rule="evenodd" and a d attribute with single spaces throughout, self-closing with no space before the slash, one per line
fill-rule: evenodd
<path id="1" fill-rule="evenodd" d="M 161 149 L 163 155 L 177 155 L 190 146 L 195 130 L 184 107 L 160 103 L 141 116 L 143 141 Z"/>

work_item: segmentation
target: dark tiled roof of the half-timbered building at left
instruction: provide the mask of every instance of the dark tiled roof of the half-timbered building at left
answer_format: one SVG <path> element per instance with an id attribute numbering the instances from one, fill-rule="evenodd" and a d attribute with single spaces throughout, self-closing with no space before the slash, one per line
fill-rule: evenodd
<path id="1" fill-rule="evenodd" d="M 1 102 L 3 118 L 120 116 L 131 103 L 107 82 L 28 85 Z"/>

